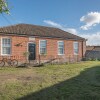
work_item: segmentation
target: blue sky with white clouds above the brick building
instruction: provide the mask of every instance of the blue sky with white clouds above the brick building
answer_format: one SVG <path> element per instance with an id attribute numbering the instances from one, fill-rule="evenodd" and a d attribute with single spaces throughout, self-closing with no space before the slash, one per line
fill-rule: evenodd
<path id="1" fill-rule="evenodd" d="M 100 45 L 100 0 L 8 0 L 0 27 L 19 23 L 57 27 Z"/>

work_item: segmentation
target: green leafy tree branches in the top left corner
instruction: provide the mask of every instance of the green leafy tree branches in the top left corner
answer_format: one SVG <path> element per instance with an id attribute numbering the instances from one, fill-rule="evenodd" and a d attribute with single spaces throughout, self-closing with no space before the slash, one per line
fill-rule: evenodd
<path id="1" fill-rule="evenodd" d="M 0 0 L 0 13 L 9 14 L 8 4 L 6 0 Z"/>

